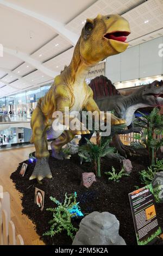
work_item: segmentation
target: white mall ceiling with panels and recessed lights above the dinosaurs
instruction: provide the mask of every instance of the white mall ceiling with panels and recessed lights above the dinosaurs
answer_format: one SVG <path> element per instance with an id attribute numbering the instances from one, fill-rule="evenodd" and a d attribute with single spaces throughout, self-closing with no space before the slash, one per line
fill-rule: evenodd
<path id="1" fill-rule="evenodd" d="M 86 18 L 113 13 L 129 21 L 130 47 L 163 35 L 163 0 L 0 0 L 0 97 L 52 82 Z"/>

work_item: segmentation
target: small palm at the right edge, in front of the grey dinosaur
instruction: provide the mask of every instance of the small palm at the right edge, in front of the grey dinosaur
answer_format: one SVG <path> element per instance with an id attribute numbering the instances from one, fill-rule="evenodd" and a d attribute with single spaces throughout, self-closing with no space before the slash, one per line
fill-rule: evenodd
<path id="1" fill-rule="evenodd" d="M 141 139 L 146 145 L 151 164 L 155 164 L 156 153 L 163 145 L 163 139 L 159 138 L 159 135 L 163 135 L 163 115 L 159 113 L 159 108 L 154 108 L 149 115 L 141 114 L 142 117 L 136 118 L 135 124 L 143 128 Z"/>

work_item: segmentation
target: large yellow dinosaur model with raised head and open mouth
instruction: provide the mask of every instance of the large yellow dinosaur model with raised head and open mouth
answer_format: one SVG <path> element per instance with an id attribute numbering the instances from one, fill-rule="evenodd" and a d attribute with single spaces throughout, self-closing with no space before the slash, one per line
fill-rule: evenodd
<path id="1" fill-rule="evenodd" d="M 93 100 L 91 88 L 85 83 L 86 74 L 99 61 L 125 51 L 128 47 L 126 40 L 129 34 L 128 21 L 119 15 L 98 15 L 95 19 L 86 20 L 70 65 L 55 77 L 53 86 L 38 101 L 33 112 L 31 121 L 33 135 L 30 142 L 35 144 L 36 165 L 30 180 L 52 178 L 48 164 L 47 130 L 52 126 L 54 112 L 60 111 L 65 115 L 65 107 L 69 107 L 70 111 L 86 109 L 100 112 Z M 125 123 L 124 120 L 111 114 L 111 125 L 122 123 Z M 53 156 L 62 159 L 62 146 L 70 142 L 74 135 L 86 133 L 89 131 L 62 132 L 51 144 Z"/>

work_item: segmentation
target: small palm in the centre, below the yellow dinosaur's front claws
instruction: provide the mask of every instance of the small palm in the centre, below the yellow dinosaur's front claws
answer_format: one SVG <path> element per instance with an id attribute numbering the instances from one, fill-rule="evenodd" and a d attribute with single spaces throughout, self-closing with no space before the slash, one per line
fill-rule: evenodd
<path id="1" fill-rule="evenodd" d="M 86 139 L 86 138 L 85 138 Z M 97 177 L 101 177 L 101 157 L 114 152 L 114 148 L 109 147 L 111 138 L 102 137 L 96 132 L 96 144 L 86 139 L 87 144 L 79 147 L 79 156 L 86 162 L 91 162 Z"/>

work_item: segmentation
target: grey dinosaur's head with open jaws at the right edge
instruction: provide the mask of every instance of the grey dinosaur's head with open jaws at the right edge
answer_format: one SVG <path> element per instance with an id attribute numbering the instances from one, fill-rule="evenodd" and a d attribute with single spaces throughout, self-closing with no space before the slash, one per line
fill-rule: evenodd
<path id="1" fill-rule="evenodd" d="M 163 81 L 154 81 L 141 88 L 143 103 L 152 107 L 160 107 L 163 105 Z"/>

